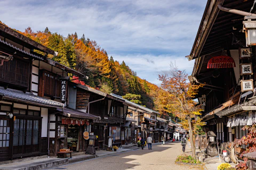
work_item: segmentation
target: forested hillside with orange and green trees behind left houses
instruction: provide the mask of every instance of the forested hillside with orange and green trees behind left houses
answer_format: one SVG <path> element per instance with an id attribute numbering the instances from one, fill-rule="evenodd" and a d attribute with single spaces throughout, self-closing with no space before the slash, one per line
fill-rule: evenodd
<path id="1" fill-rule="evenodd" d="M 139 78 L 124 61 L 119 63 L 114 57 L 108 56 L 96 41 L 85 38 L 84 35 L 79 38 L 76 32 L 63 37 L 48 28 L 33 31 L 28 27 L 24 32 L 18 32 L 58 52 L 57 57 L 48 57 L 87 75 L 89 79 L 83 81 L 88 86 L 108 94 L 140 95 L 141 105 L 154 108 L 158 87 Z"/>

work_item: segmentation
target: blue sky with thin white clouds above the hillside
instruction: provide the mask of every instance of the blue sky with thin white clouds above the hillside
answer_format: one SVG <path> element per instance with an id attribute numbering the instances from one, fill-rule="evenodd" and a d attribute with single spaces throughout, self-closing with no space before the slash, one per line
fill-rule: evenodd
<path id="1" fill-rule="evenodd" d="M 75 2 L 75 3 L 73 3 Z M 11 28 L 58 32 L 97 41 L 109 56 L 159 84 L 170 62 L 191 73 L 188 62 L 206 0 L 0 0 L 0 20 Z"/>

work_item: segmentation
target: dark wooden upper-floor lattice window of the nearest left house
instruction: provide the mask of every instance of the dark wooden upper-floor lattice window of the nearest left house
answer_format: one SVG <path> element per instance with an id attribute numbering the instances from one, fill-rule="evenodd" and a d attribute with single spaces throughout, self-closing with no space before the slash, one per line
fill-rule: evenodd
<path id="1" fill-rule="evenodd" d="M 0 81 L 28 88 L 29 68 L 29 62 L 17 60 L 17 58 L 4 62 L 0 67 Z"/>

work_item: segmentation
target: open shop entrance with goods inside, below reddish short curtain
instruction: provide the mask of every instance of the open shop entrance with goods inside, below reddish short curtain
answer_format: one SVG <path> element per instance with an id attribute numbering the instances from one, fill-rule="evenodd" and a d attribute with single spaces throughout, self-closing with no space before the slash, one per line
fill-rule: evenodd
<path id="1" fill-rule="evenodd" d="M 73 151 L 78 151 L 79 148 L 79 126 L 78 125 L 68 125 L 68 148 Z"/>

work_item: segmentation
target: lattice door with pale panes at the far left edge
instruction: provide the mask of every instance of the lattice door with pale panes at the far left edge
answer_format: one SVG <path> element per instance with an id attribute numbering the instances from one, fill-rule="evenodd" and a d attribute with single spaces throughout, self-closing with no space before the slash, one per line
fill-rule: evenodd
<path id="1" fill-rule="evenodd" d="M 0 120 L 0 161 L 10 159 L 10 121 Z"/>

